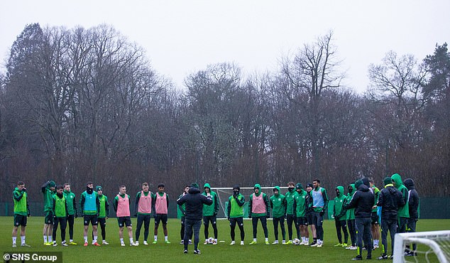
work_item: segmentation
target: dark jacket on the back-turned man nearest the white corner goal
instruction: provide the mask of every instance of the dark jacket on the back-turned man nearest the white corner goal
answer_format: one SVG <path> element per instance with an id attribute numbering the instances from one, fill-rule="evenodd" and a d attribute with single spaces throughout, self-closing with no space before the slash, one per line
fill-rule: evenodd
<path id="1" fill-rule="evenodd" d="M 397 210 L 401 205 L 405 205 L 402 193 L 392 183 L 387 184 L 378 196 L 377 206 L 381 208 L 381 219 L 397 220 Z"/>

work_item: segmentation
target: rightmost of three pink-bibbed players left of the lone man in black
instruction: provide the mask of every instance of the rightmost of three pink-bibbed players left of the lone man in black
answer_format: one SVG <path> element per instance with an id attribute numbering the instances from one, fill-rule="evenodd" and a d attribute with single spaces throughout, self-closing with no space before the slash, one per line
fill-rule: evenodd
<path id="1" fill-rule="evenodd" d="M 153 244 L 158 243 L 158 227 L 160 222 L 163 222 L 164 242 L 170 244 L 168 240 L 168 208 L 169 208 L 169 195 L 164 192 L 164 183 L 158 185 L 158 193 L 155 194 L 153 200 L 155 207 L 155 240 Z"/>

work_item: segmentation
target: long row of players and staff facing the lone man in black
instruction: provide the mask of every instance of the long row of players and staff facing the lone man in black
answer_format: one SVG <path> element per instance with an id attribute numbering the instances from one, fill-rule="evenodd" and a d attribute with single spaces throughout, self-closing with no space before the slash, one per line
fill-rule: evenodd
<path id="1" fill-rule="evenodd" d="M 379 247 L 380 222 L 382 231 L 382 255 L 379 259 L 388 259 L 387 234 L 390 232 L 393 245 L 395 232 L 415 231 L 417 222 L 418 195 L 414 188 L 412 179 L 402 182 L 396 173 L 383 181 L 385 188 L 379 190 L 375 187 L 373 179 L 362 178 L 351 183 L 344 193 L 343 186 L 335 188 L 336 198 L 334 198 L 333 218 L 336 225 L 336 235 L 338 243 L 336 247 L 358 250 L 356 260 L 362 259 L 361 251 L 368 250 L 368 258 L 371 258 L 371 251 Z M 405 187 L 406 185 L 406 187 Z M 190 186 L 186 186 L 182 195 L 185 195 Z M 265 244 L 269 245 L 267 219 L 272 211 L 273 234 L 275 241 L 272 244 L 279 244 L 278 226 L 281 230 L 281 243 L 295 245 L 307 245 L 311 247 L 322 247 L 324 240 L 324 229 L 322 227 L 324 213 L 329 203 L 326 189 L 320 186 L 319 179 L 312 183 L 307 183 L 304 189 L 302 183 L 287 183 L 287 192 L 283 195 L 280 187 L 273 188 L 273 195 L 270 197 L 263 193 L 259 184 L 254 186 L 253 193 L 248 197 L 248 218 L 251 218 L 253 226 L 253 241 L 250 245 L 256 244 L 258 220 L 260 221 Z M 136 194 L 134 215 L 137 217 L 136 241 L 133 241 L 133 230 L 131 227 L 131 198 L 126 194 L 126 186 L 119 187 L 119 194 L 114 197 L 113 205 L 119 224 L 119 238 L 121 246 L 124 243 L 124 227 L 127 228 L 128 238 L 131 246 L 139 245 L 141 227 L 144 226 L 143 244 L 148 245 L 148 233 L 150 218 L 155 218 L 154 241 L 158 242 L 158 226 L 163 223 L 165 243 L 168 240 L 168 206 L 169 196 L 164 192 L 163 183 L 158 185 L 157 193 L 150 193 L 148 183 L 142 184 L 142 190 Z M 412 192 L 412 194 L 411 194 Z M 73 240 L 74 219 L 77 218 L 77 203 L 75 194 L 70 190 L 70 184 L 56 186 L 54 181 L 48 181 L 42 186 L 44 196 L 45 224 L 43 228 L 44 245 L 57 246 L 56 232 L 60 227 L 61 245 L 77 245 Z M 367 194 L 369 193 L 369 194 Z M 219 211 L 218 195 L 211 190 L 209 183 L 204 184 L 203 195 L 212 197 L 212 205 L 204 205 L 204 245 L 217 244 L 216 215 Z M 180 195 L 180 198 L 182 197 Z M 398 196 L 393 198 L 393 196 Z M 13 191 L 14 200 L 14 227 L 13 227 L 13 247 L 16 247 L 16 236 L 18 227 L 21 226 L 21 246 L 28 247 L 25 242 L 26 219 L 29 216 L 28 200 L 26 188 L 23 182 L 18 182 Z M 235 228 L 238 225 L 241 234 L 241 245 L 244 245 L 245 237 L 243 229 L 244 203 L 246 198 L 240 193 L 239 186 L 234 186 L 233 195 L 228 198 L 226 217 L 230 222 L 231 244 L 235 245 Z M 92 182 L 88 182 L 86 190 L 81 194 L 79 207 L 84 221 L 84 246 L 88 245 L 87 233 L 89 225 L 92 225 L 92 245 L 108 245 L 106 242 L 106 219 L 109 215 L 109 201 L 103 194 L 101 186 L 94 190 Z M 178 215 L 181 218 L 180 237 L 184 242 L 185 234 L 185 208 L 183 205 L 177 207 Z M 285 220 L 287 222 L 287 238 L 285 231 Z M 65 229 L 69 225 L 70 240 L 65 240 Z M 209 224 L 214 230 L 214 238 L 209 238 Z M 97 225 L 101 227 L 101 242 L 97 241 Z M 292 239 L 293 227 L 295 227 L 297 238 Z M 347 225 L 349 232 L 347 232 Z M 313 240 L 309 242 L 309 232 L 312 233 Z M 344 239 L 342 238 L 344 234 Z M 351 243 L 349 243 L 349 235 Z M 191 242 L 191 240 L 189 240 Z M 408 252 L 414 254 L 415 247 Z M 412 254 L 411 254 L 412 253 Z"/>

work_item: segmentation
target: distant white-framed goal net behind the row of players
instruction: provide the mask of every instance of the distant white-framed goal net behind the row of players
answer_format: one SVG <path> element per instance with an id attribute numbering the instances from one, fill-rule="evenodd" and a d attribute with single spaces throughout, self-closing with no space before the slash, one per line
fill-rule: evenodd
<path id="1" fill-rule="evenodd" d="M 233 195 L 232 187 L 213 187 L 212 191 L 217 193 L 217 198 L 219 199 L 219 212 L 217 213 L 217 219 L 226 219 L 226 213 L 228 208 L 228 198 Z M 280 186 L 281 194 L 287 192 L 287 187 Z M 261 186 L 261 191 L 268 195 L 268 198 L 273 195 L 273 186 Z M 243 218 L 248 218 L 248 200 L 250 200 L 250 195 L 254 193 L 253 187 L 241 187 L 239 191 L 241 195 L 246 198 L 246 203 L 243 205 Z"/>

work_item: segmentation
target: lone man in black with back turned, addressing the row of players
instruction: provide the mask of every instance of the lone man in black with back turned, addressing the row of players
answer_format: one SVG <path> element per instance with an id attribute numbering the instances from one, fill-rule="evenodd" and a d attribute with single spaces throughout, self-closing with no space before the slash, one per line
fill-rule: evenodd
<path id="1" fill-rule="evenodd" d="M 189 245 L 189 238 L 192 237 L 192 228 L 194 229 L 194 254 L 200 254 L 198 249 L 200 226 L 203 218 L 203 204 L 212 205 L 211 195 L 208 197 L 202 195 L 197 183 L 192 183 L 187 191 L 187 195 L 183 195 L 177 200 L 178 205 L 186 203 L 185 216 L 185 253 L 187 253 L 187 245 Z"/>

